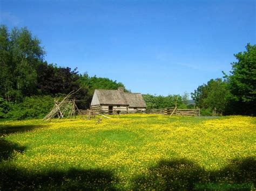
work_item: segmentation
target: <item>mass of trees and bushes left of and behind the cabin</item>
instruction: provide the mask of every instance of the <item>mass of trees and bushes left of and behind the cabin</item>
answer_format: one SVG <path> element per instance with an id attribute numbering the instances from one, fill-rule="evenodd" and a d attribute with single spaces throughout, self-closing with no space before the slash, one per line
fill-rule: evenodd
<path id="1" fill-rule="evenodd" d="M 41 41 L 26 27 L 11 31 L 4 25 L 0 27 L 0 118 L 42 117 L 55 98 L 79 88 L 75 98 L 81 100 L 78 106 L 85 109 L 96 88 L 124 87 L 106 77 L 79 74 L 77 68 L 58 67 L 45 61 L 44 56 Z"/>

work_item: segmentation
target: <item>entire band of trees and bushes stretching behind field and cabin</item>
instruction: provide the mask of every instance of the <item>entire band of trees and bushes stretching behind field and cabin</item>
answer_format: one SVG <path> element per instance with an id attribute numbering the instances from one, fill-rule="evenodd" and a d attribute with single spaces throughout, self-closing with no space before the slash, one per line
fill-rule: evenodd
<path id="1" fill-rule="evenodd" d="M 245 52 L 235 54 L 230 75 L 212 79 L 199 86 L 191 97 L 203 114 L 212 109 L 223 114 L 255 115 L 256 53 L 255 45 L 248 44 Z M 90 106 L 95 89 L 117 89 L 123 83 L 104 77 L 79 74 L 77 68 L 59 67 L 44 60 L 41 41 L 23 27 L 8 30 L 0 27 L 0 118 L 40 118 L 72 90 L 81 109 Z M 129 91 L 125 89 L 125 91 Z M 143 95 L 147 108 L 169 108 L 176 104 L 187 108 L 188 94 Z"/>

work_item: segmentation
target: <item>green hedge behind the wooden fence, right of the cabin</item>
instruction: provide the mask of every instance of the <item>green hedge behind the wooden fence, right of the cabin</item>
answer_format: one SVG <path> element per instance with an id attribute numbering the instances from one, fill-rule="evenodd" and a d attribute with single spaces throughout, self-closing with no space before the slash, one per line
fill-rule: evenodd
<path id="1" fill-rule="evenodd" d="M 182 98 L 180 95 L 156 96 L 146 94 L 143 95 L 143 98 L 147 105 L 147 109 L 172 108 L 175 107 L 176 102 L 178 108 L 180 108 L 180 106 L 183 105 Z M 182 107 L 184 107 L 184 105 Z"/>

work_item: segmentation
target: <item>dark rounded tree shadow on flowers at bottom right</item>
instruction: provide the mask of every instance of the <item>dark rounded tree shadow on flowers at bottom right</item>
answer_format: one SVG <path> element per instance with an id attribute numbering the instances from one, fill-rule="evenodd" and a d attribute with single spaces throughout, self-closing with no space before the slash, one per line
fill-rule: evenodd
<path id="1" fill-rule="evenodd" d="M 194 190 L 255 188 L 256 161 L 232 160 L 220 171 L 206 171 L 185 159 L 162 160 L 149 173 L 134 178 L 133 190 Z"/>

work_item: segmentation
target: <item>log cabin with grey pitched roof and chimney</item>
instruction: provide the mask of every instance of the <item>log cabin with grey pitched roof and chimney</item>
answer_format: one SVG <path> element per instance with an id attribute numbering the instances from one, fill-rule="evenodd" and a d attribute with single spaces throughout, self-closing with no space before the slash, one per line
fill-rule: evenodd
<path id="1" fill-rule="evenodd" d="M 146 104 L 140 93 L 124 92 L 123 87 L 118 90 L 96 89 L 91 102 L 93 110 L 107 113 L 133 113 L 146 111 Z"/>

